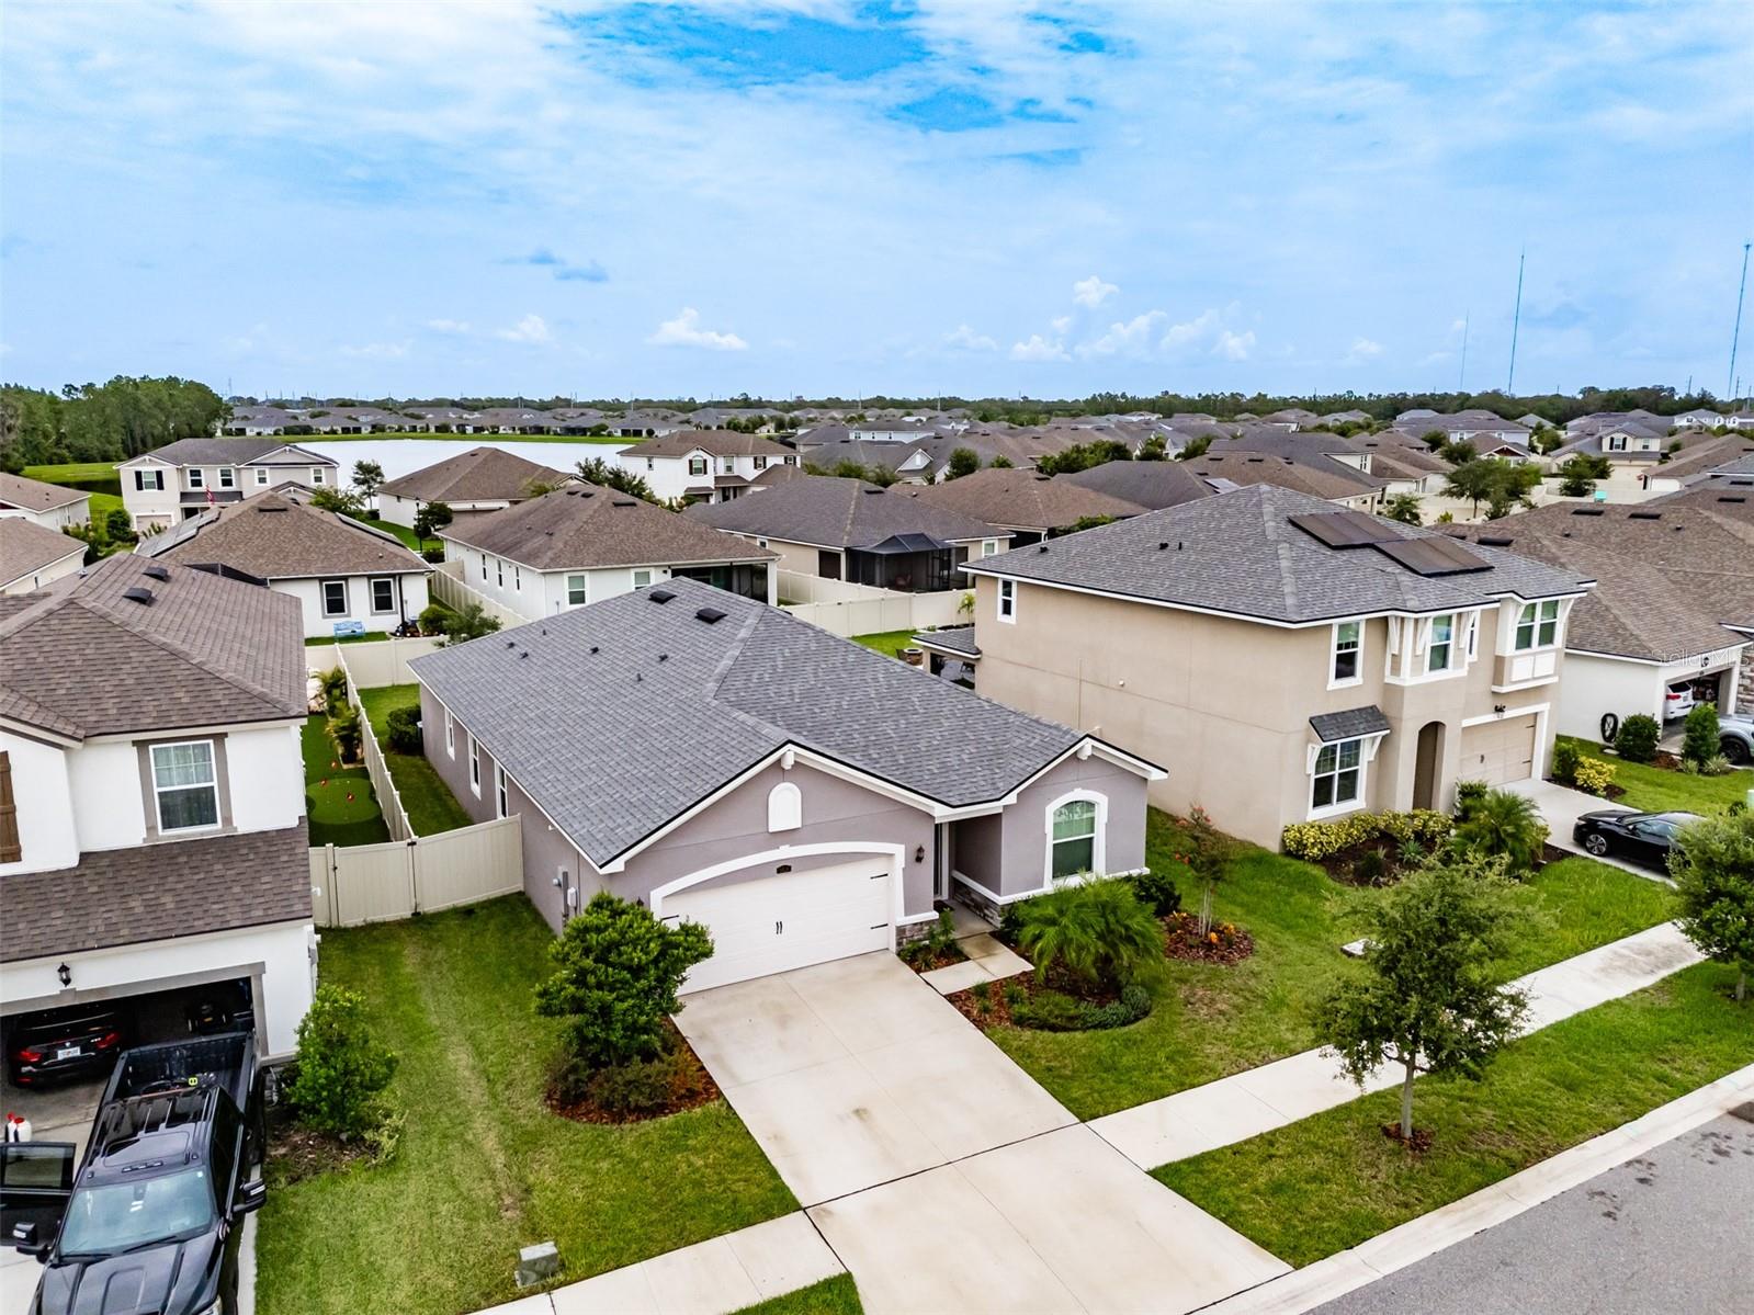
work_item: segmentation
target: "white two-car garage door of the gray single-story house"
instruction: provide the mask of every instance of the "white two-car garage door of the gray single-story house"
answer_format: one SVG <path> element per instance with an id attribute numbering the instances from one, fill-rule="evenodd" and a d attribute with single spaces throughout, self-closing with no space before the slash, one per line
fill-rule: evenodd
<path id="1" fill-rule="evenodd" d="M 700 922 L 712 933 L 712 957 L 695 966 L 682 989 L 705 991 L 888 950 L 889 880 L 888 857 L 861 857 L 812 871 L 677 891 L 663 899 L 660 915 Z"/>

